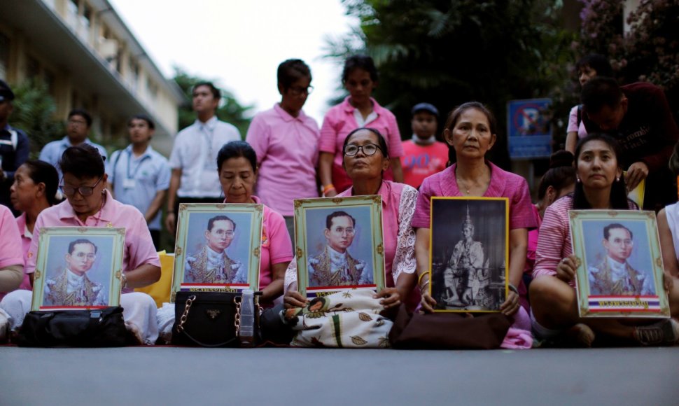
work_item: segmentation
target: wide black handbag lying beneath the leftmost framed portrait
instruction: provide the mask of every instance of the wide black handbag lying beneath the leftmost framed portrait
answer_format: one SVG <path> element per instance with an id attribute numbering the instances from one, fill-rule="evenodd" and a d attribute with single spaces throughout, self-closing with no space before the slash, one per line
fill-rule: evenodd
<path id="1" fill-rule="evenodd" d="M 124 346 L 128 339 L 120 306 L 29 311 L 16 338 L 19 346 Z"/>

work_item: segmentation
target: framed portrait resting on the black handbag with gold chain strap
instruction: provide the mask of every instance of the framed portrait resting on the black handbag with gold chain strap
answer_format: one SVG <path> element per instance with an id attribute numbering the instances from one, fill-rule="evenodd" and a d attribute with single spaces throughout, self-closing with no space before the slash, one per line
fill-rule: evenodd
<path id="1" fill-rule="evenodd" d="M 259 290 L 262 204 L 179 205 L 172 301 L 179 290 Z"/>

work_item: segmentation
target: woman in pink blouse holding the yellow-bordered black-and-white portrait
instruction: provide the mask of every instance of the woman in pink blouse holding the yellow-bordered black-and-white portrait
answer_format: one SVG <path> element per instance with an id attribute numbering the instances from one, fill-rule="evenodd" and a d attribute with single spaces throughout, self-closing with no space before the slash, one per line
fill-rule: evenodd
<path id="1" fill-rule="evenodd" d="M 510 293 L 500 305 L 500 311 L 512 316 L 520 307 L 517 286 L 526 262 L 528 229 L 536 226 L 528 183 L 521 176 L 505 172 L 486 160 L 486 153 L 495 145 L 497 136 L 495 118 L 483 104 L 468 102 L 458 106 L 449 114 L 443 136 L 449 148 L 455 151 L 456 163 L 423 181 L 412 219 L 412 226 L 416 228 L 415 255 L 422 307 L 425 311 L 432 311 L 436 305 L 429 295 L 428 286 L 430 198 L 507 197 L 510 205 Z M 528 315 L 523 313 L 524 325 L 521 328 L 528 329 Z"/>

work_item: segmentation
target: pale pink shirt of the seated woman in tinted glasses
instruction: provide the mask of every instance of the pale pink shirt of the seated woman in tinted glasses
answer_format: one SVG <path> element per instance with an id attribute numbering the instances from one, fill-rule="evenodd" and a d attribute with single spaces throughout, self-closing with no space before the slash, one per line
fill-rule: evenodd
<path id="1" fill-rule="evenodd" d="M 41 211 L 33 228 L 33 241 L 28 251 L 26 272 L 35 272 L 36 254 L 38 253 L 38 241 L 40 230 L 43 227 L 124 227 L 125 250 L 123 251 L 123 272 L 131 271 L 141 265 L 153 265 L 160 267 L 158 253 L 153 246 L 151 232 L 148 231 L 144 215 L 136 207 L 123 204 L 111 197 L 106 190 L 106 203 L 102 210 L 94 216 L 87 217 L 85 222 L 80 221 L 73 211 L 68 200 Z M 132 292 L 134 289 L 123 289 L 123 293 Z"/>

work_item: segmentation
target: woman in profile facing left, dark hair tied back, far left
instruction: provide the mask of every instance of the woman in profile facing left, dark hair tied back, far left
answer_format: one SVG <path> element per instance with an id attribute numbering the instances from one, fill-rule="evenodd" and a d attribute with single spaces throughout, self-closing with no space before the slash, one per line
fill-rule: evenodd
<path id="1" fill-rule="evenodd" d="M 21 235 L 22 254 L 26 262 L 38 214 L 57 204 L 58 185 L 57 169 L 45 161 L 26 161 L 14 174 L 10 199 L 14 209 L 23 212 L 16 221 Z M 19 288 L 33 290 L 32 273 L 24 274 L 24 280 Z"/>

